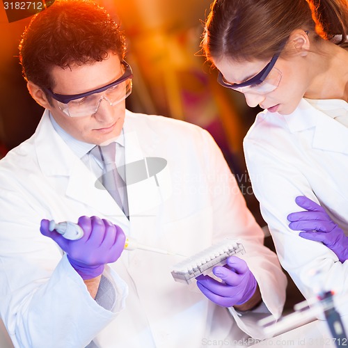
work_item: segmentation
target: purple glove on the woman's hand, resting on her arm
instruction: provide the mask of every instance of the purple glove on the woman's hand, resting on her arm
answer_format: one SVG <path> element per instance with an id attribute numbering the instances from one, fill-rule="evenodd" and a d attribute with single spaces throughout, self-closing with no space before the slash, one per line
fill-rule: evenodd
<path id="1" fill-rule="evenodd" d="M 338 256 L 340 262 L 345 262 L 348 258 L 348 237 L 345 236 L 345 232 L 330 219 L 324 208 L 313 200 L 306 196 L 298 196 L 295 202 L 306 210 L 289 214 L 289 227 L 292 230 L 305 231 L 299 235 L 305 239 L 322 242 Z"/>

